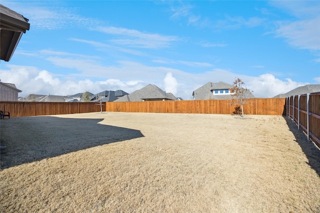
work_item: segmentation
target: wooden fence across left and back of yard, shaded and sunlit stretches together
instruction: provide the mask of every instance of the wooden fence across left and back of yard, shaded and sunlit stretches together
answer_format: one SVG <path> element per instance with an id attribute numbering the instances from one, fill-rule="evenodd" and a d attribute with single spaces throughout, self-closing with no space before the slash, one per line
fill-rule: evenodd
<path id="1" fill-rule="evenodd" d="M 106 102 L 103 104 L 105 105 L 103 109 L 107 112 L 233 114 L 236 107 L 230 105 L 230 100 Z M 285 98 L 250 99 L 243 105 L 243 112 L 246 115 L 285 115 L 284 104 Z M 100 106 L 91 102 L 1 101 L 0 109 L 10 112 L 11 117 L 100 112 Z"/>

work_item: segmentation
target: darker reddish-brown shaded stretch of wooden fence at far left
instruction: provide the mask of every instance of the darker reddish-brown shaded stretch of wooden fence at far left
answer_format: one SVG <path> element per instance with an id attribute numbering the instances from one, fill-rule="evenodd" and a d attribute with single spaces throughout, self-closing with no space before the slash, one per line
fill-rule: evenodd
<path id="1" fill-rule="evenodd" d="M 10 117 L 100 112 L 100 106 L 92 102 L 1 101 L 0 109 L 10 112 Z"/>

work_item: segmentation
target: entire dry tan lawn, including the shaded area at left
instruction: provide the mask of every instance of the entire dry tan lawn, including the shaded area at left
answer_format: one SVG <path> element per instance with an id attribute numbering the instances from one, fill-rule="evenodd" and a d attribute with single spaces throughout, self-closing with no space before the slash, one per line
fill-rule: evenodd
<path id="1" fill-rule="evenodd" d="M 1 120 L 3 213 L 319 213 L 320 151 L 281 116 Z"/>

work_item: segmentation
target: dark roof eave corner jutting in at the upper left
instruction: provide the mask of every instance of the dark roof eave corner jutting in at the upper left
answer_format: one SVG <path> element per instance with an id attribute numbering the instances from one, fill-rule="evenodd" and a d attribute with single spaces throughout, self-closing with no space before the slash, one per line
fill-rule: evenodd
<path id="1" fill-rule="evenodd" d="M 9 61 L 26 30 L 29 30 L 28 19 L 23 15 L 0 4 L 0 59 Z"/>

